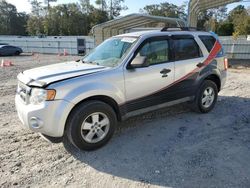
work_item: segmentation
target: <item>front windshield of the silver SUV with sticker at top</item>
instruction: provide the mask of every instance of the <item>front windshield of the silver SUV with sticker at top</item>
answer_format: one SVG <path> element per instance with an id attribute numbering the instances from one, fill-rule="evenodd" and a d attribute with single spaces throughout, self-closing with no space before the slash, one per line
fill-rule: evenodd
<path id="1" fill-rule="evenodd" d="M 105 67 L 119 65 L 137 38 L 111 38 L 97 46 L 90 54 L 83 58 L 84 63 L 94 63 Z"/>

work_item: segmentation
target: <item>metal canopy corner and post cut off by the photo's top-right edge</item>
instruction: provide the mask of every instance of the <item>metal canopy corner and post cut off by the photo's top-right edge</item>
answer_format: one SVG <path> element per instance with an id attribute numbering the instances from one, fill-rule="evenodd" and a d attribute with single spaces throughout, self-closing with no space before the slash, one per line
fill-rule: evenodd
<path id="1" fill-rule="evenodd" d="M 188 25 L 197 26 L 197 18 L 201 11 L 227 5 L 240 0 L 190 0 L 188 5 Z"/>

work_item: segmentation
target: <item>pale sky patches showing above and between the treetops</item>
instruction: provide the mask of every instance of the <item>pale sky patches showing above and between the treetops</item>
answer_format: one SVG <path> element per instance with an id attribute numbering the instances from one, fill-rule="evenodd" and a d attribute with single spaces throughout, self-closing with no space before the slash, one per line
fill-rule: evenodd
<path id="1" fill-rule="evenodd" d="M 43 0 L 41 0 L 43 2 Z M 128 10 L 122 11 L 121 15 L 127 15 L 131 13 L 138 13 L 140 8 L 145 7 L 146 5 L 150 4 L 159 4 L 162 2 L 169 2 L 176 5 L 182 5 L 186 0 L 125 0 L 125 5 L 128 7 Z M 7 2 L 14 4 L 17 7 L 17 10 L 19 12 L 27 12 L 29 13 L 31 10 L 30 3 L 28 0 L 7 0 Z M 55 4 L 63 4 L 63 3 L 69 3 L 69 2 L 78 2 L 78 0 L 57 0 L 56 3 L 51 3 L 51 5 Z M 91 0 L 91 3 L 94 3 L 95 0 Z M 135 3 L 136 2 L 136 3 Z M 250 2 L 241 2 L 241 3 L 233 3 L 228 5 L 228 9 L 231 10 L 235 6 L 242 4 L 245 5 L 245 7 L 250 7 Z"/>

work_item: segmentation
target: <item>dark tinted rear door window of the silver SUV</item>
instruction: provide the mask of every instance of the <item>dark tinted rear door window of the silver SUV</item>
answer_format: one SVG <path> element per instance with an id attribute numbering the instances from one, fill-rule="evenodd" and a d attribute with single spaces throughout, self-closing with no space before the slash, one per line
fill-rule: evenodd
<path id="1" fill-rule="evenodd" d="M 185 60 L 201 57 L 201 51 L 194 39 L 174 39 L 175 60 Z"/>

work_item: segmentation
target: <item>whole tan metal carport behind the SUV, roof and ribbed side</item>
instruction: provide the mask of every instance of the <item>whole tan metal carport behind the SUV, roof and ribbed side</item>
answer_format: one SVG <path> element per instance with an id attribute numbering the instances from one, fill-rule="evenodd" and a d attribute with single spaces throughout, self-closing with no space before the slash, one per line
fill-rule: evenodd
<path id="1" fill-rule="evenodd" d="M 92 28 L 96 44 L 113 36 L 125 33 L 136 27 L 149 26 L 151 24 L 162 23 L 164 26 L 183 27 L 186 23 L 178 18 L 169 18 L 162 16 L 150 16 L 147 14 L 129 14 L 111 21 L 96 25 Z"/>

